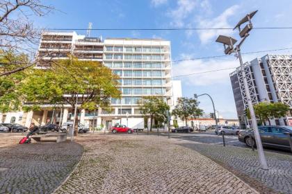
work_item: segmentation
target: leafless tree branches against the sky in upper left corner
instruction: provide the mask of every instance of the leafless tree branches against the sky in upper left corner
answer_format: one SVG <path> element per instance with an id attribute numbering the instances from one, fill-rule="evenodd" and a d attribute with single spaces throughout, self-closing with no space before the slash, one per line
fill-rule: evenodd
<path id="1" fill-rule="evenodd" d="M 35 55 L 35 48 L 39 43 L 42 30 L 35 28 L 31 17 L 42 17 L 54 10 L 53 6 L 43 5 L 40 0 L 0 0 L 0 49 L 1 51 L 13 51 L 26 53 L 30 56 L 29 62 L 15 62 L 15 64 L 3 64 L 0 76 L 22 71 L 33 66 L 38 61 L 31 56 Z M 38 59 L 40 60 L 40 59 Z M 14 66 L 13 69 L 5 69 L 6 65 Z"/>

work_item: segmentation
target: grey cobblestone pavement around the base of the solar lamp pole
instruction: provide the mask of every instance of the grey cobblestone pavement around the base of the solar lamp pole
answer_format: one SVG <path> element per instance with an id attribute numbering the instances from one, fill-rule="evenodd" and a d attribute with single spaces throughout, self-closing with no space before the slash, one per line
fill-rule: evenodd
<path id="1" fill-rule="evenodd" d="M 178 141 L 179 145 L 191 148 L 221 164 L 248 184 L 259 188 L 273 188 L 279 193 L 292 193 L 292 155 L 265 152 L 269 170 L 262 170 L 259 165 L 257 150 L 216 144 Z M 265 188 L 266 187 L 266 188 Z M 261 193 L 273 193 L 264 190 Z"/>

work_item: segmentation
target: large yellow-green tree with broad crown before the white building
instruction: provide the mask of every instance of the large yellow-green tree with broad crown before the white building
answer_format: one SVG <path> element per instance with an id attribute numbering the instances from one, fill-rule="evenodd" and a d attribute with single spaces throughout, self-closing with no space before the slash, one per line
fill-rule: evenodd
<path id="1" fill-rule="evenodd" d="M 47 70 L 30 69 L 31 73 L 21 90 L 26 102 L 38 106 L 71 105 L 74 109 L 110 109 L 111 98 L 120 98 L 118 77 L 99 62 L 82 61 L 69 56 L 67 60 L 52 62 Z M 31 106 L 24 107 L 30 109 Z M 74 135 L 78 132 L 78 114 L 74 115 Z"/>

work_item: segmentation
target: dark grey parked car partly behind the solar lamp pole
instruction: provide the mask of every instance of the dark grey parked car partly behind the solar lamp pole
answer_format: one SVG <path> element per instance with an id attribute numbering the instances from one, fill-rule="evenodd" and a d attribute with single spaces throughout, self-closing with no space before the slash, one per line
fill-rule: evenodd
<path id="1" fill-rule="evenodd" d="M 292 134 L 291 126 L 260 126 L 259 135 L 261 143 L 265 147 L 290 149 L 288 134 Z M 256 147 L 253 130 L 241 130 L 238 140 L 245 143 L 249 147 Z"/>

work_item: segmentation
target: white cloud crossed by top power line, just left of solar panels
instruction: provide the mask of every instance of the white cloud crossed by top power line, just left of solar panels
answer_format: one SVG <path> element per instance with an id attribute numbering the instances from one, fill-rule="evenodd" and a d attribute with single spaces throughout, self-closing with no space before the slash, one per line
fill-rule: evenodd
<path id="1" fill-rule="evenodd" d="M 197 26 L 199 28 L 232 28 L 228 23 L 228 19 L 236 13 L 239 6 L 235 5 L 230 8 L 227 8 L 222 14 L 220 14 L 218 17 L 215 17 L 213 19 L 203 19 L 200 18 L 198 21 Z M 204 30 L 204 31 L 198 31 L 198 35 L 200 37 L 200 40 L 202 44 L 206 44 L 211 41 L 211 39 L 217 37 L 219 34 L 224 35 L 230 35 L 232 32 L 227 30 Z"/>

